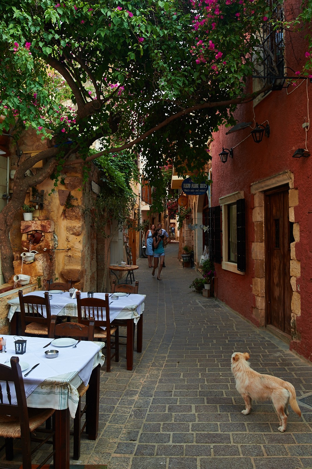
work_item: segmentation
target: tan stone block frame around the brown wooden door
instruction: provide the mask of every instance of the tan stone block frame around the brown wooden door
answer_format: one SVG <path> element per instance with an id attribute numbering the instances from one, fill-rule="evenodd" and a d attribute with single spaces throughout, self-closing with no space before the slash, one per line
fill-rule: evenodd
<path id="1" fill-rule="evenodd" d="M 290 283 L 291 299 L 291 339 L 300 340 L 296 330 L 296 318 L 300 316 L 300 292 L 297 291 L 297 277 L 300 277 L 300 261 L 296 259 L 295 244 L 299 241 L 299 223 L 295 221 L 294 207 L 298 205 L 298 189 L 294 189 L 294 175 L 283 171 L 251 184 L 254 198 L 253 227 L 254 242 L 252 243 L 252 259 L 254 261 L 253 278 L 253 318 L 260 326 L 265 325 L 265 265 L 264 265 L 264 192 L 268 189 L 289 185 L 289 219 L 293 225 L 295 241 L 290 244 Z"/>

